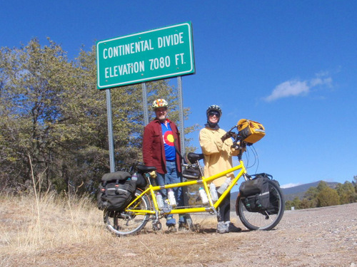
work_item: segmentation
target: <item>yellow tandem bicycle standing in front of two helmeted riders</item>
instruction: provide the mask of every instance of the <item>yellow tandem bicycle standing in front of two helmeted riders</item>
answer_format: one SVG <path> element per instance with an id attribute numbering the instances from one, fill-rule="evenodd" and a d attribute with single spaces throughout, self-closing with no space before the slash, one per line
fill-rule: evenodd
<path id="1" fill-rule="evenodd" d="M 246 151 L 246 146 L 249 145 L 247 142 L 243 141 L 243 138 L 239 133 L 233 132 L 238 126 L 235 125 L 228 132 L 231 133 L 233 137 L 233 147 L 239 150 L 238 153 L 238 164 L 231 169 L 227 169 L 224 172 L 220 172 L 211 177 L 203 177 L 203 175 L 196 180 L 188 180 L 186 182 L 180 182 L 177 184 L 166 184 L 164 186 L 156 186 L 151 182 L 150 172 L 156 170 L 155 167 L 147 167 L 144 165 L 137 166 L 137 172 L 142 174 L 147 180 L 149 186 L 146 189 L 136 189 L 134 199 L 130 204 L 126 206 L 122 211 L 105 211 L 104 210 L 104 223 L 106 224 L 109 231 L 113 232 L 117 236 L 126 236 L 137 234 L 139 231 L 144 229 L 149 221 L 152 221 L 152 228 L 154 231 L 161 229 L 161 222 L 164 216 L 169 214 L 194 214 L 194 213 L 207 213 L 207 214 L 217 214 L 218 206 L 221 204 L 223 199 L 227 196 L 228 192 L 231 192 L 233 186 L 238 182 L 241 177 L 246 181 L 253 179 L 257 174 L 249 175 L 244 166 L 242 155 Z M 188 153 L 187 155 L 188 163 L 183 164 L 186 168 L 197 167 L 202 173 L 199 160 L 203 159 L 202 154 Z M 228 173 L 236 172 L 238 174 L 231 183 L 228 185 L 226 190 L 218 197 L 216 201 L 213 201 L 211 192 L 209 189 L 209 184 L 219 177 L 223 177 Z M 268 175 L 269 176 L 269 175 Z M 270 176 L 271 177 L 271 176 Z M 208 197 L 207 204 L 200 204 L 195 206 L 166 206 L 165 209 L 159 209 L 158 201 L 156 199 L 156 192 L 160 189 L 170 189 L 174 187 L 189 187 L 198 184 L 206 192 Z M 273 197 L 273 206 L 275 209 L 273 211 L 266 209 L 263 211 L 251 211 L 246 206 L 246 198 L 241 197 L 238 194 L 236 199 L 236 214 L 239 216 L 242 224 L 246 226 L 249 230 L 271 230 L 273 229 L 283 217 L 285 209 L 285 201 L 283 198 L 283 193 L 275 180 L 268 181 L 269 194 Z"/>

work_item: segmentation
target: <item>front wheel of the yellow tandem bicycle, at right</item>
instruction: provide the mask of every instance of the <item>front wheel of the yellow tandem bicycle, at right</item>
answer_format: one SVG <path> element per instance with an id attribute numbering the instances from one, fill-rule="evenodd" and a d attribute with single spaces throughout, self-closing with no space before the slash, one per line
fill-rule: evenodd
<path id="1" fill-rule="evenodd" d="M 242 224 L 249 230 L 271 230 L 277 226 L 283 218 L 285 210 L 283 192 L 278 184 L 273 181 L 268 181 L 268 185 L 270 194 L 273 193 L 278 196 L 276 199 L 276 201 L 278 201 L 278 203 L 276 203 L 278 210 L 273 212 L 273 214 L 268 211 L 263 211 L 262 213 L 248 211 L 244 206 L 241 197 L 238 197 L 236 200 L 236 214 L 239 216 L 239 219 L 241 219 Z"/>

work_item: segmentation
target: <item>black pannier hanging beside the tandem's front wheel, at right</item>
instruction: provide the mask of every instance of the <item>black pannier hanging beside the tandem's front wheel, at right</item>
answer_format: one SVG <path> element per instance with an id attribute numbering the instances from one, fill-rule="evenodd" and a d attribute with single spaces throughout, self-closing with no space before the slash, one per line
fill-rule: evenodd
<path id="1" fill-rule="evenodd" d="M 270 186 L 270 182 L 278 187 L 278 181 L 270 178 L 269 174 L 255 174 L 251 180 L 241 183 L 240 197 L 247 211 L 260 212 L 261 214 L 277 214 L 279 209 L 278 192 Z M 270 182 L 269 182 L 270 181 Z"/>

